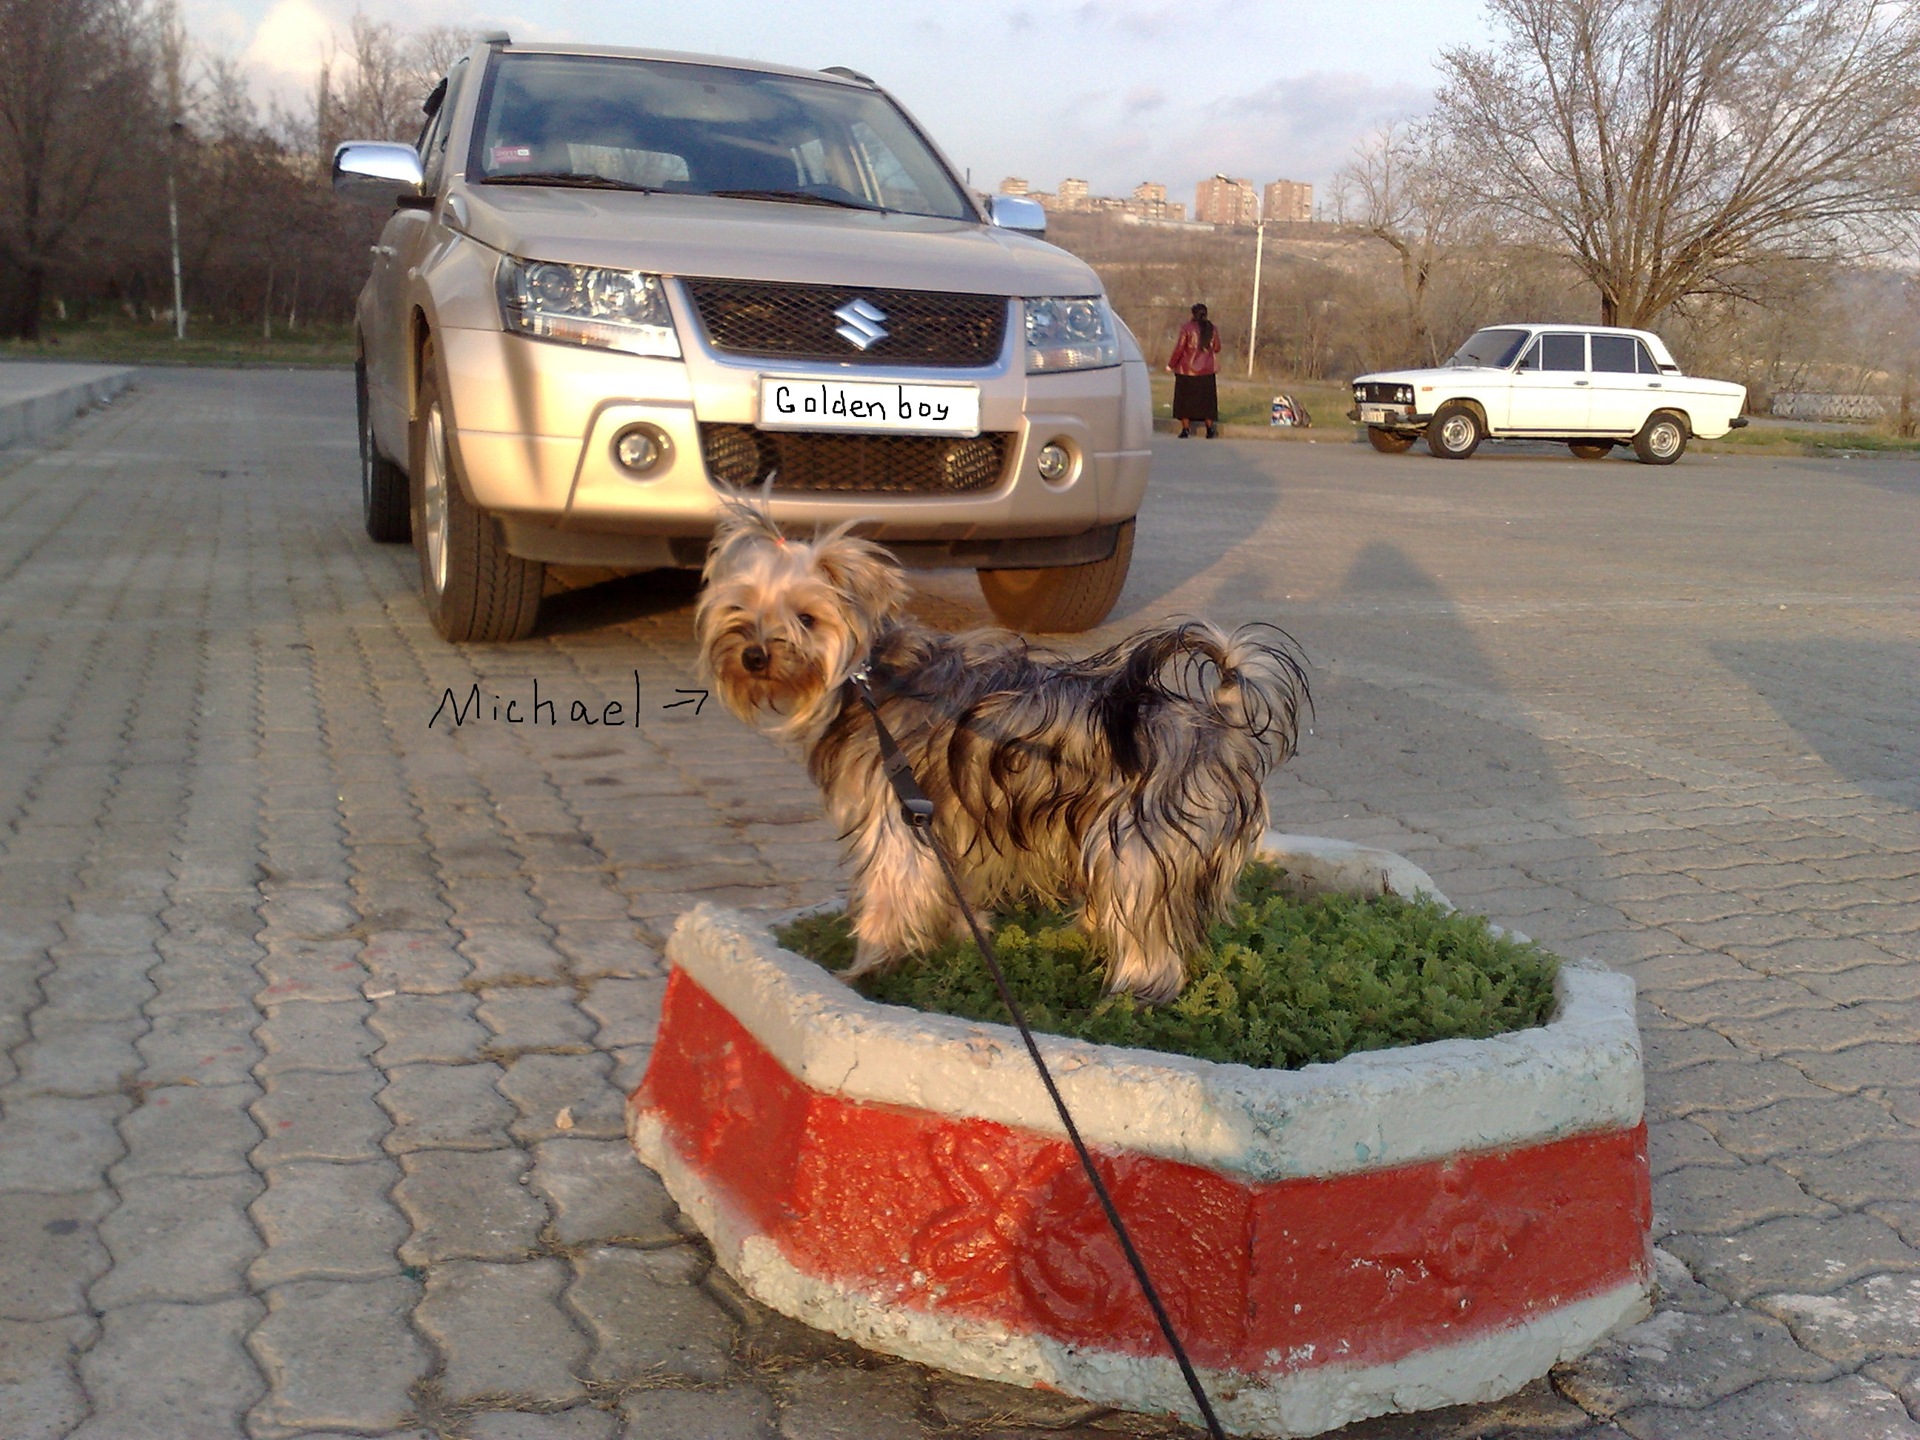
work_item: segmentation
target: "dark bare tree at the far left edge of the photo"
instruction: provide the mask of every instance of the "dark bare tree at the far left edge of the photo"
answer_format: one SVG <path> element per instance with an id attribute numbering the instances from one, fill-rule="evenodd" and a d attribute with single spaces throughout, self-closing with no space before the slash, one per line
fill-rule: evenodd
<path id="1" fill-rule="evenodd" d="M 36 340 L 48 278 L 152 138 L 138 0 L 0 0 L 0 334 Z"/>

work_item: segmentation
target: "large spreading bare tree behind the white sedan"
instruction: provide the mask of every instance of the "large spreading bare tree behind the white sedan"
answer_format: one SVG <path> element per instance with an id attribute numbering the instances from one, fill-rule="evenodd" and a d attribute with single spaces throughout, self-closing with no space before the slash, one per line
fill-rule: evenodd
<path id="1" fill-rule="evenodd" d="M 1442 52 L 1459 180 L 1551 244 L 1607 323 L 1740 294 L 1764 255 L 1897 244 L 1920 213 L 1920 8 L 1899 0 L 1488 0 Z"/>

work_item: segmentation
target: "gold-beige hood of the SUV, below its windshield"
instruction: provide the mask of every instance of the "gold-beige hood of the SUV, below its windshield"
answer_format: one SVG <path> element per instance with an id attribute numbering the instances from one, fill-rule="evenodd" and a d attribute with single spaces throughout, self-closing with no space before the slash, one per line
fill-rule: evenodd
<path id="1" fill-rule="evenodd" d="M 459 184 L 465 228 L 526 259 L 660 275 L 1092 296 L 1100 276 L 1044 240 L 991 225 L 718 196 Z"/>

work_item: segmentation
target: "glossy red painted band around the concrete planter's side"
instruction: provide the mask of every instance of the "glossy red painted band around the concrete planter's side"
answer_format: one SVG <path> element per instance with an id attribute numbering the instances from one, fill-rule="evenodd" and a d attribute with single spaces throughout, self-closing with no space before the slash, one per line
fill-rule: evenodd
<path id="1" fill-rule="evenodd" d="M 1060 1139 L 812 1091 L 678 968 L 634 1106 L 806 1275 L 1075 1346 L 1164 1352 Z M 1644 1123 L 1327 1179 L 1100 1164 L 1212 1369 L 1394 1361 L 1647 1281 Z"/>

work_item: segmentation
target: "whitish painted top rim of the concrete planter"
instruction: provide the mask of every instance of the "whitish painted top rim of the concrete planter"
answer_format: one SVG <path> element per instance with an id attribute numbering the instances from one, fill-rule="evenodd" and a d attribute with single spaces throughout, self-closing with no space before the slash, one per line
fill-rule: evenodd
<path id="1" fill-rule="evenodd" d="M 1388 851 L 1269 831 L 1261 856 L 1311 889 L 1446 899 Z M 701 904 L 668 958 L 810 1089 L 1062 1135 L 1010 1025 L 876 1004 L 780 948 L 766 922 Z M 1039 1037 L 1089 1144 L 1248 1179 L 1340 1175 L 1640 1123 L 1634 983 L 1561 966 L 1553 1021 L 1484 1041 L 1252 1069 Z"/>

